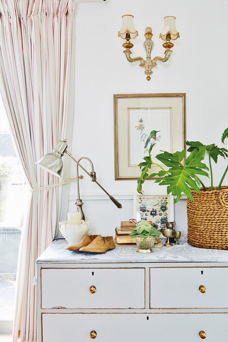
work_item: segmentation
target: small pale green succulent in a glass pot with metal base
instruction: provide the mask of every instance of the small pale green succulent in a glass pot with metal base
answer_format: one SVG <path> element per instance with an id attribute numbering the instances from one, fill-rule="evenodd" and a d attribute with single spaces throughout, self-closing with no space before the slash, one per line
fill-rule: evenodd
<path id="1" fill-rule="evenodd" d="M 136 245 L 138 246 L 137 252 L 152 253 L 155 238 L 160 236 L 161 233 L 147 221 L 142 220 L 129 235 L 135 237 Z"/>

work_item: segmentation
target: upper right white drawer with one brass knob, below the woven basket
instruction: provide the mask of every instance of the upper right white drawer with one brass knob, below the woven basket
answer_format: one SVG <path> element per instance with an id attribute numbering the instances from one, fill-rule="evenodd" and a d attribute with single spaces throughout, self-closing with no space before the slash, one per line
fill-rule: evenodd
<path id="1" fill-rule="evenodd" d="M 227 267 L 150 268 L 150 307 L 228 308 L 227 282 Z"/>

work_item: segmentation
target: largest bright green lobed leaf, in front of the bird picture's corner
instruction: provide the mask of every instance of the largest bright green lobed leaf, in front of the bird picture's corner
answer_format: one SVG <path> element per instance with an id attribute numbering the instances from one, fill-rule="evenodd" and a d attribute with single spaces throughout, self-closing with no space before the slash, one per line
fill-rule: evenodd
<path id="1" fill-rule="evenodd" d="M 208 167 L 202 163 L 206 151 L 206 146 L 200 146 L 199 149 L 193 149 L 191 154 L 186 159 L 186 166 L 182 165 L 182 160 L 185 157 L 185 150 L 181 152 L 168 153 L 164 152 L 156 156 L 158 160 L 170 167 L 163 179 L 157 179 L 155 183 L 167 185 L 167 193 L 177 196 L 175 203 L 181 198 L 181 192 L 186 194 L 193 200 L 190 189 L 194 189 L 197 193 L 199 190 L 199 181 L 197 175 L 208 177 Z M 163 171 L 164 174 L 164 171 Z M 161 176 L 161 171 L 157 174 L 152 174 L 148 178 Z"/>

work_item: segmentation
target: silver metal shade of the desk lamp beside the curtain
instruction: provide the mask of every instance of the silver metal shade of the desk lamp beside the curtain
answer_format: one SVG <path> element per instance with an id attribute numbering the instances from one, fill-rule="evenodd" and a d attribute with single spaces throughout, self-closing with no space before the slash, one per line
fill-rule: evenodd
<path id="1" fill-rule="evenodd" d="M 44 155 L 36 165 L 57 177 L 61 177 L 63 169 L 62 156 L 66 152 L 67 144 L 66 139 L 60 140 L 51 153 Z"/>

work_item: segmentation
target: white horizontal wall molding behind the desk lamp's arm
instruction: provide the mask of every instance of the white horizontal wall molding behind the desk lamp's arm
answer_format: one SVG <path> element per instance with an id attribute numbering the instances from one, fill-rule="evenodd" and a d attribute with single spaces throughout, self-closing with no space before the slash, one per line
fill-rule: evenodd
<path id="1" fill-rule="evenodd" d="M 111 193 L 113 197 L 117 200 L 133 200 L 133 192 L 123 192 L 123 193 Z M 109 200 L 109 196 L 105 193 L 83 193 L 80 195 L 83 201 L 98 201 L 98 200 Z M 77 198 L 77 193 L 69 193 L 69 201 L 75 201 Z M 176 198 L 176 196 L 174 196 Z M 186 195 L 182 195 L 181 199 L 187 199 Z"/>

